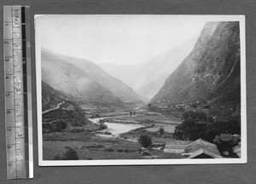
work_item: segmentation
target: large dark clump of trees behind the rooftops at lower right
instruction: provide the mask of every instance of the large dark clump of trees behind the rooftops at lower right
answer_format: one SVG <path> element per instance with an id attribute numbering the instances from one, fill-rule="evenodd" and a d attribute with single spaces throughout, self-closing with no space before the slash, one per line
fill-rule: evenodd
<path id="1" fill-rule="evenodd" d="M 207 118 L 205 112 L 184 112 L 183 122 L 175 127 L 173 136 L 183 141 L 195 141 L 201 138 L 212 142 L 215 135 L 220 134 L 240 135 L 240 122 L 232 118 L 215 122 L 212 118 Z"/>

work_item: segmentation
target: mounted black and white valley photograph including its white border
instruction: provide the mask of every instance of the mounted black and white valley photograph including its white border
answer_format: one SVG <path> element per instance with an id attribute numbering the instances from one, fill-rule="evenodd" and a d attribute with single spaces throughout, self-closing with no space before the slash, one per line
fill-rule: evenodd
<path id="1" fill-rule="evenodd" d="M 247 162 L 245 17 L 35 15 L 41 166 Z"/>

